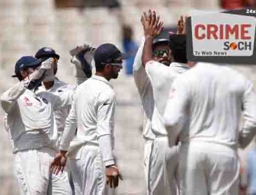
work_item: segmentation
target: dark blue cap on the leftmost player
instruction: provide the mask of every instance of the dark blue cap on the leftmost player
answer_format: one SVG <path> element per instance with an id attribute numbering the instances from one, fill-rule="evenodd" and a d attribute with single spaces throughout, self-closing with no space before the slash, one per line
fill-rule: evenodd
<path id="1" fill-rule="evenodd" d="M 20 77 L 20 71 L 22 71 L 22 69 L 29 67 L 39 67 L 41 62 L 42 61 L 34 58 L 33 56 L 23 56 L 15 64 L 15 75 L 12 75 L 11 77 Z"/>

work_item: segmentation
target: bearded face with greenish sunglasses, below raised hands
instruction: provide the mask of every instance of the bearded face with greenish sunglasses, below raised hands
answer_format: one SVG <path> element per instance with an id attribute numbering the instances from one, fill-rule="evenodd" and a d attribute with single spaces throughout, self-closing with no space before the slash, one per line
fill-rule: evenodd
<path id="1" fill-rule="evenodd" d="M 154 61 L 158 61 L 159 63 L 162 63 L 166 66 L 169 66 L 172 62 L 172 57 L 168 44 L 156 45 L 154 47 L 153 54 Z"/>

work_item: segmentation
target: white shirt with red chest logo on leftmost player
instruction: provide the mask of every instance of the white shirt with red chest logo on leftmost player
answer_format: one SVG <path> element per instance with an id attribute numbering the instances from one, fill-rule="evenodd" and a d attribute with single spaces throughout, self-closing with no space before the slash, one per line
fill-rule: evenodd
<path id="1" fill-rule="evenodd" d="M 6 112 L 5 126 L 9 130 L 13 153 L 27 149 L 52 147 L 53 112 L 71 105 L 73 92 L 62 96 L 46 91 L 34 92 L 20 82 L 1 95 L 1 106 Z"/>

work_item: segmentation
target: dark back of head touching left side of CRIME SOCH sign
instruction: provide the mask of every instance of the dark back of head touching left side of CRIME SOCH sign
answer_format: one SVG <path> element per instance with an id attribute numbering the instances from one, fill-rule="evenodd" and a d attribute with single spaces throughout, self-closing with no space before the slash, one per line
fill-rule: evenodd
<path id="1" fill-rule="evenodd" d="M 177 63 L 187 63 L 185 34 L 170 35 L 170 50 L 172 51 L 172 61 Z"/>

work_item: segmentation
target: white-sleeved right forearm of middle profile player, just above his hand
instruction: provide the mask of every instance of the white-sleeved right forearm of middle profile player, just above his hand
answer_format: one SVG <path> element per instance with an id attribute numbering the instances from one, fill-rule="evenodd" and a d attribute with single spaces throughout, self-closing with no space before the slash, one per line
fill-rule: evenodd
<path id="1" fill-rule="evenodd" d="M 102 135 L 98 138 L 98 143 L 100 145 L 100 152 L 102 154 L 102 160 L 105 165 L 114 165 L 115 160 L 112 152 L 112 139 L 110 134 Z"/>

